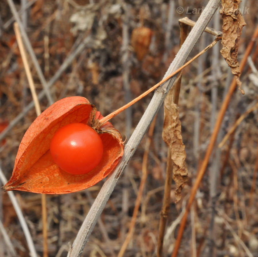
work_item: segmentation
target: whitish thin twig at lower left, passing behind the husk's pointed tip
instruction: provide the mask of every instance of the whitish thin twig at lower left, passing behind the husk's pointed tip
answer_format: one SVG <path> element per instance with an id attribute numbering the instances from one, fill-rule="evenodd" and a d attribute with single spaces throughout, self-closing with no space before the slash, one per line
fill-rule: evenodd
<path id="1" fill-rule="evenodd" d="M 3 185 L 5 185 L 7 183 L 7 179 L 5 178 L 5 175 L 3 174 L 3 171 L 1 169 L 1 167 L 0 167 L 0 180 L 1 180 Z M 11 200 L 11 202 L 13 204 L 13 207 L 14 207 L 16 213 L 17 213 L 17 217 L 18 217 L 18 219 L 19 219 L 19 221 L 21 223 L 21 227 L 23 229 L 26 241 L 28 243 L 28 248 L 30 250 L 30 256 L 31 257 L 38 257 L 37 253 L 36 253 L 36 250 L 35 250 L 35 246 L 34 246 L 33 240 L 32 240 L 32 236 L 30 234 L 29 228 L 28 228 L 27 223 L 25 221 L 25 218 L 24 218 L 24 216 L 22 214 L 22 211 L 21 211 L 21 208 L 20 208 L 20 206 L 18 204 L 18 201 L 17 201 L 13 191 L 8 191 L 7 193 L 9 195 L 10 200 Z"/>

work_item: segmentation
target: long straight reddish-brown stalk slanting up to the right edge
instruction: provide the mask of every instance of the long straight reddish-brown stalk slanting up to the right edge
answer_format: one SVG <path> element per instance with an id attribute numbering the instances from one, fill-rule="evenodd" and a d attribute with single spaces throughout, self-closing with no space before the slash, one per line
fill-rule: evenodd
<path id="1" fill-rule="evenodd" d="M 249 43 L 249 45 L 248 45 L 248 47 L 247 47 L 247 49 L 245 51 L 245 54 L 243 56 L 243 59 L 241 61 L 240 66 L 239 66 L 240 71 L 243 71 L 243 68 L 245 67 L 245 64 L 246 64 L 246 61 L 247 61 L 247 57 L 249 56 L 249 54 L 250 54 L 250 52 L 251 52 L 251 50 L 252 50 L 252 48 L 254 46 L 255 39 L 257 37 L 258 37 L 258 26 L 256 27 L 256 30 L 255 30 L 255 32 L 253 34 L 253 37 L 252 37 L 252 39 L 251 39 L 251 41 L 250 41 L 250 43 Z M 220 108 L 220 112 L 218 114 L 218 118 L 217 118 L 216 124 L 214 126 L 214 131 L 213 131 L 213 133 L 211 135 L 210 143 L 208 145 L 208 148 L 207 148 L 204 160 L 202 162 L 202 165 L 200 167 L 200 170 L 198 172 L 198 175 L 196 177 L 196 181 L 195 181 L 195 183 L 194 183 L 194 185 L 193 185 L 193 187 L 191 189 L 191 195 L 189 197 L 189 201 L 188 201 L 187 207 L 185 209 L 185 213 L 184 213 L 184 216 L 182 218 L 182 222 L 181 222 L 180 227 L 179 227 L 179 231 L 178 231 L 178 235 L 177 235 L 177 241 L 176 241 L 176 244 L 175 244 L 175 249 L 174 249 L 171 257 L 176 257 L 177 256 L 177 251 L 178 251 L 180 243 L 181 243 L 181 239 L 182 239 L 182 236 L 183 236 L 183 231 L 184 231 L 184 228 L 185 228 L 185 224 L 186 224 L 186 220 L 187 220 L 187 215 L 188 215 L 189 209 L 190 209 L 190 207 L 191 207 L 191 205 L 193 203 L 193 200 L 194 200 L 195 195 L 196 195 L 196 191 L 197 191 L 197 189 L 198 189 L 198 187 L 200 185 L 200 182 L 202 180 L 202 177 L 203 177 L 203 175 L 204 175 L 204 173 L 206 171 L 206 168 L 207 168 L 207 165 L 208 165 L 208 161 L 209 161 L 210 155 L 212 153 L 212 149 L 213 149 L 214 144 L 215 144 L 216 139 L 217 139 L 217 135 L 218 135 L 218 132 L 219 132 L 219 129 L 220 129 L 220 125 L 222 123 L 222 120 L 224 118 L 224 114 L 226 112 L 226 109 L 228 107 L 228 104 L 230 102 L 231 96 L 232 96 L 235 88 L 236 88 L 236 80 L 233 79 L 232 83 L 230 85 L 230 88 L 228 90 L 228 93 L 227 93 L 227 95 L 226 95 L 226 97 L 225 97 L 225 99 L 224 99 L 224 101 L 222 103 L 222 106 Z"/>

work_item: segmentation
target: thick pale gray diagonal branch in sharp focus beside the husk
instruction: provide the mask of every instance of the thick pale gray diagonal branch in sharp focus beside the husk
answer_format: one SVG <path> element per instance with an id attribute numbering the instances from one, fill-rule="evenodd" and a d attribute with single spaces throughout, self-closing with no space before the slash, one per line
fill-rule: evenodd
<path id="1" fill-rule="evenodd" d="M 220 0 L 210 0 L 200 15 L 198 21 L 194 25 L 193 29 L 189 33 L 188 37 L 186 38 L 184 44 L 180 48 L 177 56 L 169 66 L 169 69 L 167 70 L 165 77 L 167 77 L 169 74 L 171 74 L 173 71 L 177 70 L 179 67 L 181 67 L 184 63 L 186 58 L 189 56 L 191 50 L 195 46 L 196 42 L 202 35 L 202 32 L 208 25 L 210 19 L 212 18 L 213 14 L 215 13 L 216 9 L 218 8 L 220 4 Z M 101 214 L 103 211 L 105 204 L 107 200 L 109 199 L 112 191 L 114 190 L 114 187 L 116 186 L 116 183 L 120 176 L 122 175 L 126 165 L 128 164 L 130 158 L 134 154 L 136 148 L 138 147 L 144 133 L 147 131 L 151 121 L 153 120 L 155 114 L 159 110 L 159 107 L 163 103 L 163 100 L 168 92 L 168 90 L 171 88 L 173 82 L 175 80 L 175 76 L 171 78 L 169 82 L 166 82 L 158 88 L 153 95 L 152 100 L 150 101 L 150 104 L 148 105 L 146 111 L 144 112 L 140 122 L 138 123 L 136 129 L 134 130 L 132 136 L 130 137 L 128 143 L 125 146 L 124 149 L 124 155 L 116 167 L 116 169 L 113 171 L 113 173 L 107 178 L 106 182 L 104 183 L 103 187 L 99 191 L 99 194 L 97 195 L 97 198 L 95 199 L 95 202 L 91 206 L 91 209 L 89 210 L 76 238 L 73 242 L 72 248 L 69 250 L 68 257 L 78 257 L 81 256 L 81 253 L 83 252 L 83 249 L 85 247 L 85 244 Z"/>

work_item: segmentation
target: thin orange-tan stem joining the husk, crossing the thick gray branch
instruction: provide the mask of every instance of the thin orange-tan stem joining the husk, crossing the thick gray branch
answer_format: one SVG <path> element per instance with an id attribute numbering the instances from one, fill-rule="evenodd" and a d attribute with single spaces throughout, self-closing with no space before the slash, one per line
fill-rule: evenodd
<path id="1" fill-rule="evenodd" d="M 218 42 L 218 40 L 220 40 L 221 37 L 217 37 L 210 45 L 208 45 L 206 48 L 204 48 L 204 50 L 202 50 L 200 53 L 198 53 L 196 56 L 194 56 L 191 60 L 189 60 L 187 63 L 185 63 L 183 66 L 181 66 L 179 69 L 177 69 L 175 72 L 171 73 L 169 76 L 167 76 L 166 78 L 164 78 L 163 80 L 161 80 L 159 83 L 157 83 L 155 86 L 153 86 L 152 88 L 148 89 L 147 91 L 145 91 L 143 94 L 141 94 L 140 96 L 136 97 L 134 100 L 132 100 L 131 102 L 129 102 L 128 104 L 122 106 L 121 108 L 117 109 L 116 111 L 108 114 L 107 116 L 105 116 L 104 118 L 102 118 L 101 120 L 99 120 L 99 122 L 101 124 L 104 124 L 105 122 L 107 122 L 108 120 L 110 120 L 111 118 L 115 117 L 117 114 L 119 114 L 120 112 L 122 112 L 123 110 L 125 110 L 126 108 L 130 107 L 131 105 L 133 105 L 134 103 L 138 102 L 140 99 L 142 99 L 144 96 L 146 96 L 148 93 L 154 91 L 156 88 L 158 88 L 159 86 L 161 86 L 164 82 L 166 82 L 167 80 L 169 80 L 170 78 L 172 78 L 173 76 L 175 76 L 178 72 L 180 72 L 181 70 L 183 70 L 183 68 L 185 68 L 187 65 L 189 65 L 191 62 L 193 62 L 195 59 L 197 59 L 199 56 L 201 56 L 202 54 L 204 54 L 208 49 L 212 48 L 213 46 L 216 45 L 216 43 Z"/>

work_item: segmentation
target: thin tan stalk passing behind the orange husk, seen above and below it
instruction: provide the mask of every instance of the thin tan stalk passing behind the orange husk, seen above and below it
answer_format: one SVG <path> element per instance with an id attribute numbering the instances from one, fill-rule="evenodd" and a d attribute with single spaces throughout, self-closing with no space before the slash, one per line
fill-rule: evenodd
<path id="1" fill-rule="evenodd" d="M 20 53 L 21 53 L 21 59 L 22 59 L 24 69 L 25 69 L 25 72 L 26 72 L 26 76 L 27 76 L 27 79 L 28 79 L 28 82 L 29 82 L 29 85 L 30 85 L 30 91 L 31 91 L 31 94 L 32 94 L 32 98 L 33 98 L 33 101 L 35 103 L 36 114 L 37 114 L 37 116 L 39 116 L 41 114 L 40 104 L 39 104 L 39 101 L 38 101 L 38 96 L 36 94 L 36 89 L 35 89 L 32 74 L 31 74 L 31 71 L 30 71 L 30 66 L 29 66 L 29 63 L 28 63 L 27 56 L 26 56 L 25 48 L 24 48 L 24 45 L 22 43 L 21 33 L 19 31 L 18 23 L 15 22 L 13 27 L 14 27 L 14 32 L 15 32 L 15 35 L 16 35 L 17 43 L 18 43 L 18 46 L 19 46 L 19 50 L 20 50 Z M 46 210 L 46 195 L 44 195 L 44 194 L 41 195 L 41 205 L 42 205 L 42 230 L 43 230 L 43 257 L 48 257 L 47 210 Z"/>

